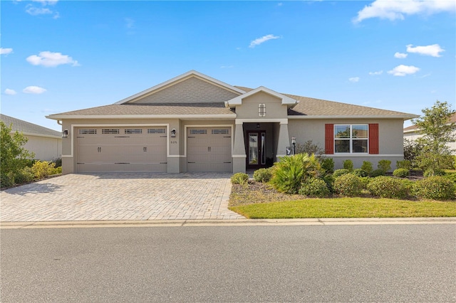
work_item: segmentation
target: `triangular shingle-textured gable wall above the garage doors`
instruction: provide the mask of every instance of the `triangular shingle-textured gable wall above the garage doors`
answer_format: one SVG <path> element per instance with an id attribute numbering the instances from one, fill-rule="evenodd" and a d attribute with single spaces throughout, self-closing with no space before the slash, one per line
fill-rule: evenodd
<path id="1" fill-rule="evenodd" d="M 207 83 L 197 78 L 189 78 L 152 95 L 134 101 L 135 103 L 205 103 L 224 102 L 239 94 Z"/>

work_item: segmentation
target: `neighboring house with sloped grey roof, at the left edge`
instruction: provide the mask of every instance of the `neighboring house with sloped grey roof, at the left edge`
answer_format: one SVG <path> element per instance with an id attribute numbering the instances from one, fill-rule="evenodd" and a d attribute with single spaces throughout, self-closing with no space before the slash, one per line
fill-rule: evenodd
<path id="1" fill-rule="evenodd" d="M 28 142 L 24 148 L 35 153 L 34 159 L 51 161 L 62 155 L 62 134 L 53 129 L 48 129 L 24 120 L 0 114 L 0 120 L 9 127 L 13 125 L 11 133 L 16 131 L 24 134 Z"/>

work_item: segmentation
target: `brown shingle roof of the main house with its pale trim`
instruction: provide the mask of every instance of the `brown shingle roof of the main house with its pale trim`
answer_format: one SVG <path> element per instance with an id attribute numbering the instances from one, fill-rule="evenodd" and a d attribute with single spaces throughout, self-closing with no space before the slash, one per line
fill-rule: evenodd
<path id="1" fill-rule="evenodd" d="M 231 100 L 225 102 L 204 102 L 204 103 L 175 103 L 175 102 L 151 102 L 151 103 L 135 103 L 136 100 L 155 92 L 164 90 L 167 87 L 182 83 L 182 81 L 190 78 L 197 78 L 206 83 L 211 83 L 217 87 L 222 87 L 224 90 L 238 95 Z M 85 110 L 75 110 L 72 112 L 63 112 L 61 114 L 49 115 L 49 119 L 78 119 L 78 118 L 153 118 L 153 117 L 173 117 L 179 118 L 185 115 L 186 118 L 232 118 L 236 117 L 234 111 L 229 109 L 231 105 L 239 105 L 240 100 L 256 92 L 266 92 L 270 95 L 279 97 L 283 104 L 289 107 L 288 115 L 290 119 L 318 119 L 318 118 L 399 118 L 412 119 L 417 115 L 407 114 L 405 112 L 395 112 L 391 110 L 380 110 L 373 107 L 364 107 L 360 105 L 350 105 L 347 103 L 333 102 L 328 100 L 320 100 L 310 97 L 302 97 L 297 95 L 289 95 L 279 92 L 274 92 L 266 87 L 258 87 L 252 89 L 249 87 L 231 86 L 222 83 L 219 80 L 210 78 L 207 75 L 198 73 L 195 70 L 190 70 L 183 75 L 172 78 L 171 80 L 155 85 L 148 90 L 144 90 L 120 100 L 113 105 L 105 105 L 100 107 L 92 107 Z M 225 106 L 225 103 L 227 104 Z M 212 116 L 212 117 L 211 117 Z"/>

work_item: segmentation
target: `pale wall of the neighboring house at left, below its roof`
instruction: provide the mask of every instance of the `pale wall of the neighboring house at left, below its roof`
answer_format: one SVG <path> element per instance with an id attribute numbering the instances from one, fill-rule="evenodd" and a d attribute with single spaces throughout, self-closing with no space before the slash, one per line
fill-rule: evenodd
<path id="1" fill-rule="evenodd" d="M 24 148 L 35 153 L 34 159 L 51 161 L 60 158 L 62 154 L 61 138 L 37 137 L 32 135 L 25 135 L 25 137 L 28 138 L 28 142 L 24 145 Z"/>

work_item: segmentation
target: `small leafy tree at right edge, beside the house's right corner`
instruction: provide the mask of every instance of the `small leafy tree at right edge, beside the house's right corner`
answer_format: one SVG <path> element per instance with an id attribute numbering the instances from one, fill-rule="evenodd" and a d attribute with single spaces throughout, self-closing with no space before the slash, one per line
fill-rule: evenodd
<path id="1" fill-rule="evenodd" d="M 420 168 L 427 171 L 437 171 L 453 166 L 451 150 L 447 143 L 454 142 L 456 123 L 450 122 L 456 111 L 447 102 L 437 100 L 430 109 L 422 110 L 423 116 L 413 120 L 418 133 L 423 134 L 416 140 L 422 146 L 416 161 Z"/>

